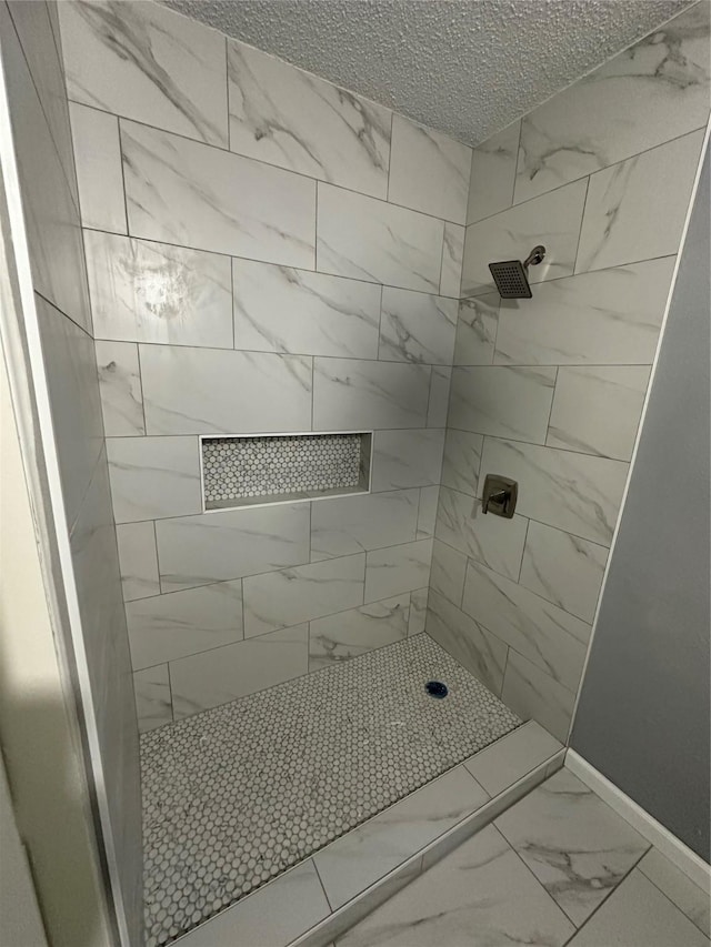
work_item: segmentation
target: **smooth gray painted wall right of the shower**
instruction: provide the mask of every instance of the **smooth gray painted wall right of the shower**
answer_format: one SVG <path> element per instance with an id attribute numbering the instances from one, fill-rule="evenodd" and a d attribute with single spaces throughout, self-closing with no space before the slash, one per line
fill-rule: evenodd
<path id="1" fill-rule="evenodd" d="M 572 747 L 709 860 L 709 154 Z"/>

